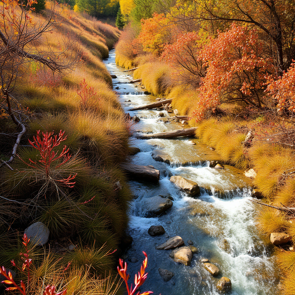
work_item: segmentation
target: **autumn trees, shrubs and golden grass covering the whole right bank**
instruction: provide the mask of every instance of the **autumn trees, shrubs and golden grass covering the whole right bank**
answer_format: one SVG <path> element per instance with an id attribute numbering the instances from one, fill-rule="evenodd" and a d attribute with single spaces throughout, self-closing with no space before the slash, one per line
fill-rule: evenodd
<path id="1" fill-rule="evenodd" d="M 294 294 L 295 7 L 293 1 L 120 1 L 116 63 L 172 99 L 224 163 L 253 169 L 262 233 L 284 232 L 282 294 Z M 143 9 L 148 6 L 148 9 Z M 142 9 L 140 9 L 142 8 Z M 290 249 L 289 249 L 290 247 Z"/>

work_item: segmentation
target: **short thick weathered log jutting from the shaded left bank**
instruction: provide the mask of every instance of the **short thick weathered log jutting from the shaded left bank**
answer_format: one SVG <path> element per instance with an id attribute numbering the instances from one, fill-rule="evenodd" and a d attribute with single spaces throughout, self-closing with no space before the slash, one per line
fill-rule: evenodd
<path id="1" fill-rule="evenodd" d="M 132 178 L 152 182 L 158 182 L 160 179 L 160 171 L 151 166 L 141 166 L 131 163 L 121 163 L 120 166 Z"/>

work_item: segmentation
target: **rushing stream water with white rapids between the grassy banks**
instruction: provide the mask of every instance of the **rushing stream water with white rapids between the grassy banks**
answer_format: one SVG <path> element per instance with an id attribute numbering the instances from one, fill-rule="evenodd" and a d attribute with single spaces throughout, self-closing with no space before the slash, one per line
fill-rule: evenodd
<path id="1" fill-rule="evenodd" d="M 136 115 L 140 122 L 134 125 L 135 132 L 163 132 L 181 129 L 180 123 L 164 123 L 159 120 L 159 112 L 166 111 L 128 109 L 155 102 L 155 96 L 144 94 L 141 85 L 128 84 L 132 72 L 123 72 L 115 64 L 115 51 L 111 50 L 105 61 L 113 79 L 114 89 L 125 112 Z M 130 138 L 130 146 L 141 152 L 130 157 L 130 162 L 138 165 L 153 165 L 160 170 L 158 184 L 130 181 L 134 199 L 130 209 L 129 234 L 133 237 L 131 247 L 124 253 L 125 260 L 136 258 L 138 262 L 128 262 L 131 279 L 140 269 L 144 258 L 142 250 L 148 254 L 148 278 L 141 291 L 153 291 L 162 295 L 217 294 L 216 283 L 226 276 L 232 281 L 232 294 L 271 295 L 276 294 L 279 282 L 274 264 L 273 247 L 261 237 L 255 228 L 255 204 L 250 196 L 249 180 L 231 166 L 224 170 L 209 168 L 209 160 L 218 160 L 218 155 L 192 138 L 149 139 Z M 152 155 L 161 155 L 171 164 L 157 162 Z M 179 191 L 169 181 L 169 176 L 180 175 L 196 181 L 201 187 L 201 196 L 191 198 Z M 173 206 L 159 217 L 147 218 L 144 203 L 153 196 L 172 196 Z M 217 196 L 221 196 L 218 198 Z M 151 225 L 162 225 L 164 235 L 151 237 Z M 171 250 L 157 250 L 156 246 L 179 235 L 185 245 L 191 240 L 198 248 L 190 266 L 175 263 L 170 257 Z M 205 271 L 201 258 L 208 258 L 220 269 L 217 277 Z M 136 260 L 133 260 L 136 261 Z M 164 282 L 158 268 L 175 273 Z M 130 279 L 130 282 L 131 282 Z"/>

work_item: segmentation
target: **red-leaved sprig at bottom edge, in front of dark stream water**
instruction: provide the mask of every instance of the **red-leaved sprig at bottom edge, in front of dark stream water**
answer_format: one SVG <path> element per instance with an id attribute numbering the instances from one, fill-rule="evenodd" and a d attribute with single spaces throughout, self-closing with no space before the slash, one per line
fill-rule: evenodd
<path id="1" fill-rule="evenodd" d="M 121 258 L 119 259 L 120 266 L 118 266 L 117 269 L 118 269 L 119 275 L 125 281 L 128 295 L 134 295 L 136 290 L 145 282 L 145 280 L 148 276 L 148 273 L 145 273 L 145 268 L 147 267 L 147 264 L 148 264 L 148 255 L 144 251 L 142 251 L 142 253 L 145 255 L 145 260 L 143 260 L 143 262 L 142 262 L 140 272 L 138 272 L 138 274 L 135 275 L 135 279 L 134 279 L 135 286 L 133 289 L 132 289 L 132 284 L 131 284 L 130 288 L 128 285 L 128 279 L 130 276 L 129 276 L 129 274 L 126 273 L 127 263 L 126 262 L 124 263 L 124 261 Z M 124 265 L 123 265 L 123 263 L 124 263 Z M 152 291 L 147 291 L 147 292 L 143 292 L 143 293 L 137 292 L 136 295 L 149 295 L 151 293 L 153 293 L 153 292 Z"/>

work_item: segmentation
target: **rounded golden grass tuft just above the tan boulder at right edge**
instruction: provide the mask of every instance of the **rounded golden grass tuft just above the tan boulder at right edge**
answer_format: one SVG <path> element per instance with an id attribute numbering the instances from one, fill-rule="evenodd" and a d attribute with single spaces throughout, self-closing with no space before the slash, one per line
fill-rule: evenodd
<path id="1" fill-rule="evenodd" d="M 266 235 L 289 228 L 289 223 L 286 221 L 285 215 L 282 212 L 270 208 L 261 209 L 256 221 L 260 232 Z"/>

